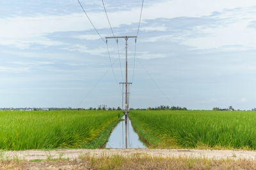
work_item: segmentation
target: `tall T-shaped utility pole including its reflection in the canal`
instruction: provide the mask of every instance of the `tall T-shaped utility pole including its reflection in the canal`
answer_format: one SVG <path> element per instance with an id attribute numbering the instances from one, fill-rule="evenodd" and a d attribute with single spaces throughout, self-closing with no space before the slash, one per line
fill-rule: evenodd
<path id="1" fill-rule="evenodd" d="M 127 113 L 129 113 L 129 101 L 128 101 L 129 92 L 128 92 L 128 86 L 132 84 L 132 83 L 128 83 L 128 60 L 127 60 L 128 39 L 129 38 L 135 38 L 136 39 L 137 36 L 113 36 L 113 37 L 106 37 L 106 39 L 111 39 L 111 38 L 114 38 L 114 39 L 124 38 L 125 39 L 125 83 L 120 83 L 120 84 L 122 84 L 122 85 L 125 84 L 125 112 L 124 112 L 124 114 L 125 114 L 125 148 L 127 148 Z M 123 94 L 124 94 L 124 91 L 123 91 Z"/>

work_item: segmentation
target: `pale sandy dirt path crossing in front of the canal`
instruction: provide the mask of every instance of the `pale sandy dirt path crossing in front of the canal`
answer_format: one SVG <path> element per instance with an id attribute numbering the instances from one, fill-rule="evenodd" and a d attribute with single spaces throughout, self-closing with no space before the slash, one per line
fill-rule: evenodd
<path id="1" fill-rule="evenodd" d="M 86 150 L 86 149 L 70 149 L 70 150 L 25 150 L 25 151 L 6 151 L 1 154 L 4 159 L 22 159 L 22 160 L 35 160 L 35 159 L 70 159 L 77 160 L 79 156 L 94 155 L 150 155 L 152 157 L 194 157 L 194 158 L 207 158 L 207 159 L 250 159 L 255 160 L 256 151 L 245 150 L 158 150 L 158 149 L 99 149 L 99 150 Z"/>

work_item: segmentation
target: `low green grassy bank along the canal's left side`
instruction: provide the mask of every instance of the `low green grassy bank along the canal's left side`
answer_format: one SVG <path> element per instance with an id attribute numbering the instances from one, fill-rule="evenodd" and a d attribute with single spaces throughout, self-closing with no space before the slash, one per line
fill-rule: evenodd
<path id="1" fill-rule="evenodd" d="M 111 132 L 115 129 L 116 125 L 122 121 L 122 118 L 114 120 L 111 124 L 109 124 L 104 131 L 102 131 L 99 136 L 92 139 L 89 143 L 82 144 L 81 148 L 84 149 L 97 149 L 97 148 L 105 148 L 108 143 L 109 136 Z"/>

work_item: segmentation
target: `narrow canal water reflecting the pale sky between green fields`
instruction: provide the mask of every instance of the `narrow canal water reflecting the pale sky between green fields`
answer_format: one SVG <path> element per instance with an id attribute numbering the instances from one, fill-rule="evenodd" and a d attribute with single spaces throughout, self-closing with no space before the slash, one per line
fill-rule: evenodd
<path id="1" fill-rule="evenodd" d="M 125 119 L 125 116 L 122 117 Z M 134 132 L 131 121 L 127 118 L 127 146 L 128 148 L 147 148 Z M 125 148 L 125 121 L 119 122 L 112 131 L 106 148 Z"/>

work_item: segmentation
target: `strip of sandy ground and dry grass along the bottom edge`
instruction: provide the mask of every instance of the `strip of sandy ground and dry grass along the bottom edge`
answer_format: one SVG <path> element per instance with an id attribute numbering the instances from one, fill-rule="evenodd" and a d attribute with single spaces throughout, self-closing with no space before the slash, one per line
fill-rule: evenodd
<path id="1" fill-rule="evenodd" d="M 25 150 L 0 156 L 0 169 L 256 169 L 256 152 L 247 150 Z"/>

